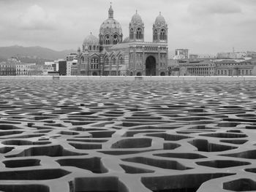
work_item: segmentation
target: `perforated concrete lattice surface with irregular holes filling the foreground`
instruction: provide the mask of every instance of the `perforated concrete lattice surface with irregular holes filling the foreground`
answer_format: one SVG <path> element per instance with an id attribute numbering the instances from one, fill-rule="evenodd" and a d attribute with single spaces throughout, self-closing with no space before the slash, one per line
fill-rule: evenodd
<path id="1" fill-rule="evenodd" d="M 0 88 L 0 191 L 256 191 L 253 81 Z"/>

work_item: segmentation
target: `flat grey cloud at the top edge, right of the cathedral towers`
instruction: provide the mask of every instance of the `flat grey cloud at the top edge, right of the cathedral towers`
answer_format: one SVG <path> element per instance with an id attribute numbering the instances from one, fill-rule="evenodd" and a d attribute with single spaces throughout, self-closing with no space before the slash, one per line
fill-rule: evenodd
<path id="1" fill-rule="evenodd" d="M 188 12 L 195 15 L 234 14 L 241 13 L 242 9 L 233 0 L 199 0 L 189 4 Z"/>

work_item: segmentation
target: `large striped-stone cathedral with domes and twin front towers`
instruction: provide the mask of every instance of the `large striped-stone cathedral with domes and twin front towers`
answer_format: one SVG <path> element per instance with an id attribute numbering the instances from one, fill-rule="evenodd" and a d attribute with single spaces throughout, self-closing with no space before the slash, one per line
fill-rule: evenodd
<path id="1" fill-rule="evenodd" d="M 99 38 L 90 34 L 78 47 L 79 75 L 167 75 L 167 23 L 161 12 L 152 31 L 152 42 L 145 42 L 143 20 L 136 11 L 129 23 L 129 37 L 123 38 L 113 8 L 99 28 Z"/>

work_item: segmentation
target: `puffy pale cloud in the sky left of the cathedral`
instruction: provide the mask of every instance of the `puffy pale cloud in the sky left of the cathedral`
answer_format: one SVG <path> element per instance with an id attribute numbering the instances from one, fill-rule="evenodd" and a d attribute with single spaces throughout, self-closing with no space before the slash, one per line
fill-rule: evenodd
<path id="1" fill-rule="evenodd" d="M 20 28 L 24 30 L 53 30 L 56 28 L 56 18 L 45 12 L 37 4 L 29 7 L 20 15 Z"/>

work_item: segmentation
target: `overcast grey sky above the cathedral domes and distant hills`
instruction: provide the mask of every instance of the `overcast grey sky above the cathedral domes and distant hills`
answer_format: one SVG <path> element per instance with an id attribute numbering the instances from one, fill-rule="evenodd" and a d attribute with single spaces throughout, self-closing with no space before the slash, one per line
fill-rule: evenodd
<path id="1" fill-rule="evenodd" d="M 138 9 L 145 40 L 162 12 L 168 24 L 169 50 L 190 53 L 256 50 L 256 0 L 112 0 L 124 37 Z M 0 46 L 75 49 L 108 18 L 108 0 L 0 0 Z"/>

